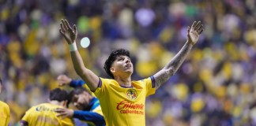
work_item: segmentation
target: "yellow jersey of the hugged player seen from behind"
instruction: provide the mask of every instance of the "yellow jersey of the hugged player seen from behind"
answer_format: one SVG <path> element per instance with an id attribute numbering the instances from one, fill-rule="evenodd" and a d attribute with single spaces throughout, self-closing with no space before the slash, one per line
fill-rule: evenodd
<path id="1" fill-rule="evenodd" d="M 22 117 L 21 123 L 36 126 L 73 126 L 74 122 L 70 118 L 57 117 L 55 113 L 57 108 L 62 108 L 62 106 L 50 103 L 32 106 Z"/>

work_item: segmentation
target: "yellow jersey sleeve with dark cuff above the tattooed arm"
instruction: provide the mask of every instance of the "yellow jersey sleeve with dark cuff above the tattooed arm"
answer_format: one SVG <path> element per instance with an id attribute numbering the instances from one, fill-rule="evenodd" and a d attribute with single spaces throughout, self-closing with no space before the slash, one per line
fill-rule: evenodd
<path id="1" fill-rule="evenodd" d="M 155 79 L 153 76 L 146 78 L 144 80 L 141 80 L 145 83 L 145 89 L 146 89 L 146 96 L 153 95 L 156 92 L 156 86 L 155 86 Z"/>

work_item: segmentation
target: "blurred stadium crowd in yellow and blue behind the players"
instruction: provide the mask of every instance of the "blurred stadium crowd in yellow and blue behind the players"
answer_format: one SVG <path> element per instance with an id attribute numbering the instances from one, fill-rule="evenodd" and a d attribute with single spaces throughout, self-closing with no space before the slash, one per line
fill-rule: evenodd
<path id="1" fill-rule="evenodd" d="M 56 78 L 74 72 L 58 33 L 77 24 L 86 67 L 108 77 L 111 50 L 130 50 L 134 80 L 152 76 L 186 43 L 186 28 L 205 31 L 186 61 L 147 98 L 147 126 L 256 125 L 256 2 L 254 0 L 0 0 L 0 100 L 17 125 L 31 106 L 47 102 Z M 91 45 L 83 49 L 81 38 Z"/>

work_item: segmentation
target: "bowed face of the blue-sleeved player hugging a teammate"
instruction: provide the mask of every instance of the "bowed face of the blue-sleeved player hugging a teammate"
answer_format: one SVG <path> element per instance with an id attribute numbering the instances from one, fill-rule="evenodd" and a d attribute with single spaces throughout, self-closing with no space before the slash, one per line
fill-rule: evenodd
<path id="1" fill-rule="evenodd" d="M 72 102 L 73 106 L 76 106 L 77 109 L 86 109 L 90 103 L 88 92 L 83 92 L 80 95 L 75 95 Z"/>

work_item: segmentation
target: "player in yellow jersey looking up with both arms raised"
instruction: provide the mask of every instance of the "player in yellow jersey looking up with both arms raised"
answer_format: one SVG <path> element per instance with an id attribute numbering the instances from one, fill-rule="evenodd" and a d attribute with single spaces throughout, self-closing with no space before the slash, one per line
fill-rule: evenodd
<path id="1" fill-rule="evenodd" d="M 154 94 L 157 88 L 175 74 L 203 31 L 201 22 L 194 21 L 192 26 L 187 28 L 188 39 L 179 53 L 155 75 L 134 81 L 131 80 L 134 66 L 128 50 L 112 51 L 104 65 L 105 71 L 112 79 L 100 78 L 85 67 L 77 50 L 76 25 L 71 28 L 67 20 L 62 20 L 60 26 L 59 32 L 69 44 L 77 75 L 85 80 L 90 90 L 99 98 L 106 124 L 111 126 L 145 126 L 145 98 Z"/>

